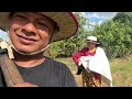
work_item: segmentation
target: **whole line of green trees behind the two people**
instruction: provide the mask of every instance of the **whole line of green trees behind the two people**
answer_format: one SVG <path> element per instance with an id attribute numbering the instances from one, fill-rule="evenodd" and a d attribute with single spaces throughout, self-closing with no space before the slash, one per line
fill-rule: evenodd
<path id="1" fill-rule="evenodd" d="M 46 51 L 48 57 L 72 57 L 86 46 L 86 37 L 95 35 L 109 58 L 125 57 L 132 53 L 132 12 L 119 12 L 101 24 L 92 25 L 81 13 L 75 13 L 79 30 L 70 38 L 55 42 Z M 92 30 L 88 30 L 91 26 Z"/>

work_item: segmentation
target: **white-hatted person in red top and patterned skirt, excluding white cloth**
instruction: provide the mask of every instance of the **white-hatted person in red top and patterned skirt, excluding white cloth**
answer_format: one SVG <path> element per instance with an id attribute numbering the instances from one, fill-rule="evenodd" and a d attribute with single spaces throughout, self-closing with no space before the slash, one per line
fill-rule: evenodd
<path id="1" fill-rule="evenodd" d="M 100 43 L 97 43 L 96 36 L 87 37 L 87 47 L 84 47 L 81 51 L 76 53 L 73 56 L 75 64 L 77 65 L 78 72 L 77 75 L 82 76 L 82 87 L 99 87 L 101 85 L 101 77 L 99 74 L 94 72 L 87 72 L 82 65 L 79 65 L 79 61 L 84 56 L 92 57 L 96 54 L 97 46 Z"/>

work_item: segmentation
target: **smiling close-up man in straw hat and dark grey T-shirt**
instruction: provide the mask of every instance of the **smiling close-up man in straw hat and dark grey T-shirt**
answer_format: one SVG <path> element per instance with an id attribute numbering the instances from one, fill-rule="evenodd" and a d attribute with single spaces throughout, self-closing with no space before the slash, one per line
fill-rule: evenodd
<path id="1" fill-rule="evenodd" d="M 14 87 L 76 87 L 69 68 L 43 55 L 52 42 L 68 38 L 78 30 L 72 12 L 0 12 L 13 62 L 24 79 Z M 0 75 L 0 86 L 6 86 Z"/>

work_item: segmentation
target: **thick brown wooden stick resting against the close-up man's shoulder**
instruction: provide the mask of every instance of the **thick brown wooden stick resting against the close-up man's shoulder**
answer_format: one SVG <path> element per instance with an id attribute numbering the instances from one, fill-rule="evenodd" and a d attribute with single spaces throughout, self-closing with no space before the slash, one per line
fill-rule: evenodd
<path id="1" fill-rule="evenodd" d="M 24 82 L 15 64 L 8 57 L 7 54 L 0 56 L 0 66 L 8 87 L 13 87 L 16 84 Z"/>

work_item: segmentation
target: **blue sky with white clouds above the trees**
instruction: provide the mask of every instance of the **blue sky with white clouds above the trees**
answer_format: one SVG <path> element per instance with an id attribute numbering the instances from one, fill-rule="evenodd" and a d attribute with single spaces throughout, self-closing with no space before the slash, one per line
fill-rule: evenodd
<path id="1" fill-rule="evenodd" d="M 87 19 L 88 22 L 91 24 L 101 24 L 108 19 L 112 19 L 117 12 L 81 12 Z M 0 30 L 0 37 L 7 40 L 7 33 Z"/>

